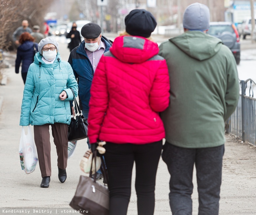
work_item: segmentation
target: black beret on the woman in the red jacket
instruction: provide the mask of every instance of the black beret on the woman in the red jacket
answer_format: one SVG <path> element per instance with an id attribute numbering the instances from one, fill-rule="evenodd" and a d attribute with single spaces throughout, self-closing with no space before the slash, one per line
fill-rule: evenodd
<path id="1" fill-rule="evenodd" d="M 144 9 L 132 10 L 125 18 L 125 30 L 133 36 L 150 37 L 157 22 L 151 12 Z"/>

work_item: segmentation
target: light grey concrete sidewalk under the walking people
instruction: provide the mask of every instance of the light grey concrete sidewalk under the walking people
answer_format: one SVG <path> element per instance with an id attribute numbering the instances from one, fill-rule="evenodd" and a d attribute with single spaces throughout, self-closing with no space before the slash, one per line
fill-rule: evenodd
<path id="1" fill-rule="evenodd" d="M 0 114 L 0 214 L 2 209 L 36 208 L 53 210 L 52 214 L 61 214 L 61 209 L 71 209 L 69 203 L 75 194 L 80 175 L 85 175 L 79 168 L 79 162 L 87 150 L 86 140 L 78 141 L 75 155 L 68 160 L 68 178 L 64 184 L 58 180 L 57 155 L 52 142 L 52 177 L 50 187 L 40 188 L 41 174 L 39 166 L 32 174 L 26 175 L 21 170 L 18 148 L 21 135 L 19 126 L 20 107 L 23 96 L 23 81 L 21 74 L 15 74 L 14 67 L 7 68 L 8 81 L 0 86 L 2 108 Z M 220 213 L 256 214 L 256 151 L 250 145 L 236 141 L 232 136 L 226 136 L 225 155 L 223 163 L 223 183 L 221 187 Z M 168 193 L 169 178 L 167 167 L 160 159 L 156 182 L 156 215 L 172 214 L 170 211 Z M 145 180 L 147 180 L 145 178 Z M 134 189 L 135 175 L 132 180 L 132 196 L 128 207 L 128 215 L 137 214 L 137 201 Z M 100 180 L 102 183 L 102 180 Z M 198 211 L 197 185 L 194 177 L 193 215 Z M 15 214 L 26 214 L 25 211 Z M 38 212 L 30 214 L 50 214 Z M 70 213 L 65 213 L 70 214 Z"/>

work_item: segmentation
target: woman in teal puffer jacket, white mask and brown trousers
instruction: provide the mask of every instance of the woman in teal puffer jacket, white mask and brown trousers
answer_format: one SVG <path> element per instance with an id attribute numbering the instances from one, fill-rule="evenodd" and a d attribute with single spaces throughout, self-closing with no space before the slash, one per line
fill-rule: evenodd
<path id="1" fill-rule="evenodd" d="M 53 38 L 42 39 L 34 62 L 30 65 L 23 92 L 20 126 L 34 126 L 34 139 L 42 175 L 41 187 L 47 188 L 51 176 L 52 127 L 58 155 L 58 178 L 67 178 L 68 125 L 71 120 L 70 101 L 77 96 L 78 85 L 68 62 L 61 61 L 59 44 Z"/>

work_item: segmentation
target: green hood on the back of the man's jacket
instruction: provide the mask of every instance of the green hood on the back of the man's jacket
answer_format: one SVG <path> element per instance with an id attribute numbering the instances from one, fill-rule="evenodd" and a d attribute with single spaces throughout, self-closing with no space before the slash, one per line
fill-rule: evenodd
<path id="1" fill-rule="evenodd" d="M 169 40 L 184 53 L 200 61 L 214 56 L 223 44 L 220 39 L 201 31 L 186 31 Z"/>

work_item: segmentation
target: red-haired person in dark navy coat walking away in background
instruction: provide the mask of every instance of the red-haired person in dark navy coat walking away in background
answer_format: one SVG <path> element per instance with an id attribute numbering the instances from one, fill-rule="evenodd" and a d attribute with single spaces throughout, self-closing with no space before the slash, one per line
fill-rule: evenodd
<path id="1" fill-rule="evenodd" d="M 19 73 L 21 64 L 21 76 L 25 84 L 29 66 L 34 62 L 35 50 L 38 51 L 38 44 L 34 42 L 34 37 L 30 33 L 24 32 L 20 35 L 19 44 L 17 49 L 17 56 L 15 60 L 15 72 Z"/>

